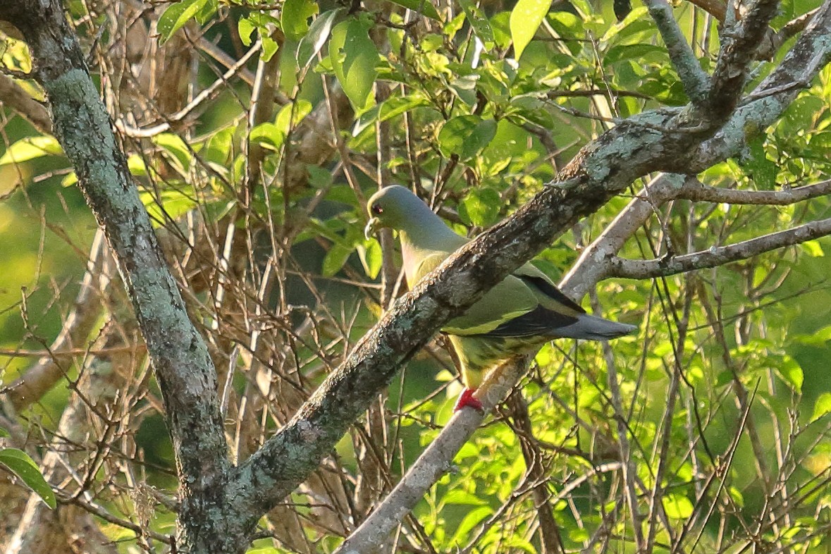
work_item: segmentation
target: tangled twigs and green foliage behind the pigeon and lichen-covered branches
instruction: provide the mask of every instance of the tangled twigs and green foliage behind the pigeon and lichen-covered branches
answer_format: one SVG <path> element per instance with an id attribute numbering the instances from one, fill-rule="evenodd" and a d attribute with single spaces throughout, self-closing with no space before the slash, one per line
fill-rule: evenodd
<path id="1" fill-rule="evenodd" d="M 818 6 L 780 4 L 746 91 Z M 674 6 L 701 69 L 745 7 Z M 690 101 L 639 4 L 621 21 L 583 0 L 66 8 L 209 343 L 234 462 L 406 287 L 394 238 L 362 234 L 379 186 L 415 189 L 475 236 L 604 131 Z M 0 472 L 0 543 L 168 552 L 177 480 L 159 385 L 25 75 L 27 47 L 2 31 L 0 426 L 42 463 L 61 515 Z M 588 275 L 564 291 L 641 331 L 545 346 L 382 548 L 829 552 L 831 242 L 772 239 L 749 259 L 666 268 L 831 218 L 831 67 L 804 85 L 740 154 L 637 179 L 540 253 L 555 279 L 575 264 Z M 598 251 L 610 237 L 620 246 Z M 460 388 L 438 336 L 263 518 L 252 552 L 332 552 L 448 422 Z"/>

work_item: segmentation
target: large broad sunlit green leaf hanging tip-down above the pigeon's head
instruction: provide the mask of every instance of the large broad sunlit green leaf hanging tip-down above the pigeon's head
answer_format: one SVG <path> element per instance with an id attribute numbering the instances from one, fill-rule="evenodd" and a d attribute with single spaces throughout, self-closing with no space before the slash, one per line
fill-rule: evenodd
<path id="1" fill-rule="evenodd" d="M 356 111 L 366 110 L 372 104 L 372 86 L 378 75 L 375 66 L 380 58 L 369 37 L 371 27 L 372 22 L 366 17 L 347 19 L 332 29 L 329 41 L 332 69 Z"/>

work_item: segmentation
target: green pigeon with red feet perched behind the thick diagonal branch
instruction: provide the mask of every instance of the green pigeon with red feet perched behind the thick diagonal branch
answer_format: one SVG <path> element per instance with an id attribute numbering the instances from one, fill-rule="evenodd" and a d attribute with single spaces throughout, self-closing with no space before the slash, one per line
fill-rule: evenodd
<path id="1" fill-rule="evenodd" d="M 367 238 L 377 228 L 398 232 L 410 288 L 468 242 L 404 187 L 391 185 L 379 190 L 366 208 L 371 213 L 365 229 Z M 441 328 L 458 355 L 466 387 L 455 409 L 482 409 L 475 390 L 488 370 L 514 355 L 534 354 L 552 339 L 605 341 L 636 329 L 588 315 L 545 273 L 526 263 Z"/>

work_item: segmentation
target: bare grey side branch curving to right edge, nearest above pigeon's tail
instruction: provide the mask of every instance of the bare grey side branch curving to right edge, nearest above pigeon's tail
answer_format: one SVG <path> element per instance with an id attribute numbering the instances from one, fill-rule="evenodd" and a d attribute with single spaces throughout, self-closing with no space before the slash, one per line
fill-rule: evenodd
<path id="1" fill-rule="evenodd" d="M 613 257 L 609 261 L 609 277 L 625 279 L 649 279 L 652 277 L 666 277 L 676 273 L 691 272 L 697 269 L 722 266 L 725 263 L 746 260 L 777 248 L 785 248 L 825 237 L 831 234 L 831 218 L 820 219 L 790 228 L 778 233 L 770 233 L 762 237 L 751 238 L 740 243 L 730 244 L 720 248 L 711 248 L 703 252 L 693 252 L 683 256 L 673 256 L 656 260 L 627 260 L 622 257 Z"/>

